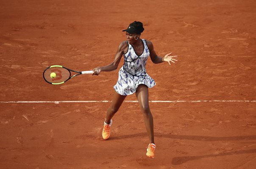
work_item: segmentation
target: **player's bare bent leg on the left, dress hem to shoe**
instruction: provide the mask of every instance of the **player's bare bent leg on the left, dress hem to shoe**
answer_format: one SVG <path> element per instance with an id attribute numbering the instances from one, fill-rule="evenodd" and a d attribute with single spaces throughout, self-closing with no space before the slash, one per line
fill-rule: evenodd
<path id="1" fill-rule="evenodd" d="M 109 124 L 110 120 L 114 116 L 114 114 L 118 111 L 122 102 L 125 100 L 126 95 L 120 95 L 116 91 L 114 91 L 114 96 L 111 102 L 111 106 L 109 107 L 106 115 L 106 123 Z"/>

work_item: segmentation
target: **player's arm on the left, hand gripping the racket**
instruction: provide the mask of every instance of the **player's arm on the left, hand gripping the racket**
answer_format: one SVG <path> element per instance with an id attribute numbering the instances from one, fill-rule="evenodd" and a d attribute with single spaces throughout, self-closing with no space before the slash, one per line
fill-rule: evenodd
<path id="1" fill-rule="evenodd" d="M 94 68 L 92 71 L 92 75 L 99 75 L 101 71 L 114 71 L 117 69 L 120 60 L 122 58 L 122 55 L 124 54 L 124 51 L 128 48 L 128 44 L 126 41 L 122 41 L 121 44 L 118 46 L 117 53 L 115 55 L 115 58 L 112 63 L 109 65 Z"/>

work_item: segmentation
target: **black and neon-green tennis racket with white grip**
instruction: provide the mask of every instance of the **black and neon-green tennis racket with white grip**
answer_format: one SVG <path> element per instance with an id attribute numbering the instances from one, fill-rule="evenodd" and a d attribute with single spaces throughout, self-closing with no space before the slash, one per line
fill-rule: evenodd
<path id="1" fill-rule="evenodd" d="M 77 74 L 71 75 L 71 71 Z M 73 71 L 61 65 L 52 65 L 45 69 L 43 77 L 47 83 L 60 85 L 80 74 L 92 74 L 93 71 Z"/>

